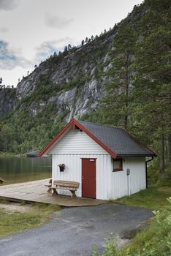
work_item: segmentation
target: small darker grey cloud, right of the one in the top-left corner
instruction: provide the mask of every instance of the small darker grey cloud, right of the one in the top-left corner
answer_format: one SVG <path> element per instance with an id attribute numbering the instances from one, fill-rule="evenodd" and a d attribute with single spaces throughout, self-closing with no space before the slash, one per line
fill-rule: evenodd
<path id="1" fill-rule="evenodd" d="M 74 18 L 64 18 L 50 13 L 45 15 L 45 23 L 47 26 L 51 26 L 56 29 L 64 29 L 74 21 Z"/>

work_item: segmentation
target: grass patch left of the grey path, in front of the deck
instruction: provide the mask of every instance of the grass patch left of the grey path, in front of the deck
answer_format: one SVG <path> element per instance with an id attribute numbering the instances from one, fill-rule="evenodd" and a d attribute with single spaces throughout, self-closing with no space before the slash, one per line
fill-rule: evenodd
<path id="1" fill-rule="evenodd" d="M 45 224 L 49 219 L 49 214 L 58 211 L 59 206 L 36 203 L 30 211 L 10 212 L 0 208 L 0 236 L 28 230 Z"/>

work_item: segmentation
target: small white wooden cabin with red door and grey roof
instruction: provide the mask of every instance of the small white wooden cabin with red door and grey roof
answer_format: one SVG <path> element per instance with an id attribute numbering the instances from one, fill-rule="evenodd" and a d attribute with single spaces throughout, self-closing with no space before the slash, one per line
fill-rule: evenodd
<path id="1" fill-rule="evenodd" d="M 42 149 L 52 155 L 52 179 L 78 181 L 77 196 L 116 199 L 147 187 L 145 157 L 156 154 L 123 129 L 74 118 Z M 58 165 L 64 164 L 64 171 Z M 68 194 L 66 190 L 63 194 Z"/>

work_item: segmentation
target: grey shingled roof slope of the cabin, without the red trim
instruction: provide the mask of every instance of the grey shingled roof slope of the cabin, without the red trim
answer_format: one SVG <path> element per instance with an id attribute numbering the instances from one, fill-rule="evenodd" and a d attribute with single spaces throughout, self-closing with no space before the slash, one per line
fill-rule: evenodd
<path id="1" fill-rule="evenodd" d="M 102 141 L 105 146 L 117 154 L 117 157 L 152 157 L 156 156 L 153 151 L 146 148 L 140 141 L 129 135 L 128 132 L 117 127 L 107 127 L 100 124 L 92 124 L 80 121 L 89 132 Z"/>

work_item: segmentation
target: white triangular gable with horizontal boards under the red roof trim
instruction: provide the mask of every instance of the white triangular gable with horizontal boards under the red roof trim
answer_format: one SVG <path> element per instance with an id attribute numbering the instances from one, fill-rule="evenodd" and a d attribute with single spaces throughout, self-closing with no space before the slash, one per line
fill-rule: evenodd
<path id="1" fill-rule="evenodd" d="M 107 154 L 99 144 L 92 140 L 85 132 L 70 129 L 53 145 L 48 154 Z"/>

